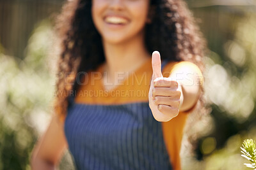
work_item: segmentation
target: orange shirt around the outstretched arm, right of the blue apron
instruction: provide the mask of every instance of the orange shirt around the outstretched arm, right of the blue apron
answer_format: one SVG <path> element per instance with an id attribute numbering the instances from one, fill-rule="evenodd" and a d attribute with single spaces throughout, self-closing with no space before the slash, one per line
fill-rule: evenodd
<path id="1" fill-rule="evenodd" d="M 180 67 L 186 67 L 188 69 L 193 69 L 193 72 L 197 74 L 199 78 L 200 85 L 203 85 L 204 78 L 202 76 L 202 71 L 193 64 L 192 62 L 182 61 L 182 62 L 169 62 L 163 68 L 163 76 L 168 77 L 170 73 Z M 180 112 L 179 115 L 168 122 L 162 122 L 163 138 L 166 145 L 168 155 L 170 155 L 170 162 L 175 170 L 180 170 L 180 146 L 183 136 L 184 126 L 188 118 L 187 112 Z"/>

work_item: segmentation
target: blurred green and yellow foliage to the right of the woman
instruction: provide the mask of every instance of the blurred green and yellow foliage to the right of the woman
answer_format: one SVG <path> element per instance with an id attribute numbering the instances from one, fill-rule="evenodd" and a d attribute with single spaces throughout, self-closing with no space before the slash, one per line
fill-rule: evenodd
<path id="1" fill-rule="evenodd" d="M 212 120 L 201 125 L 196 159 L 183 160 L 184 169 L 248 169 L 239 152 L 242 139 L 256 137 L 256 13 L 247 9 L 242 6 L 240 10 L 232 6 L 196 9 L 200 11 L 202 28 L 210 32 L 205 34 L 209 36 L 211 53 L 206 57 L 204 74 Z M 237 15 L 238 11 L 243 15 Z M 211 17 L 211 13 L 218 17 Z M 216 39 L 221 39 L 217 45 Z M 195 127 L 198 122 L 189 131 L 195 133 Z M 209 138 L 214 143 L 206 140 Z"/>

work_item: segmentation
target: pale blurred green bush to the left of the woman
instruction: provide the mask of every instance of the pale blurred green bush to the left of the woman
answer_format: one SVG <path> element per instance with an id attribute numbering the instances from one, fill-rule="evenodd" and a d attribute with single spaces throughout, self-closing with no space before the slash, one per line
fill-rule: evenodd
<path id="1" fill-rule="evenodd" d="M 44 27 L 44 29 L 42 29 Z M 31 150 L 40 131 L 49 120 L 49 103 L 54 92 L 49 69 L 45 66 L 49 51 L 45 39 L 51 27 L 39 27 L 28 45 L 28 57 L 19 60 L 0 53 L 0 169 L 29 169 Z M 36 43 L 35 43 L 36 41 Z M 39 44 L 39 45 L 38 45 Z M 38 45 L 33 52 L 35 45 Z"/>

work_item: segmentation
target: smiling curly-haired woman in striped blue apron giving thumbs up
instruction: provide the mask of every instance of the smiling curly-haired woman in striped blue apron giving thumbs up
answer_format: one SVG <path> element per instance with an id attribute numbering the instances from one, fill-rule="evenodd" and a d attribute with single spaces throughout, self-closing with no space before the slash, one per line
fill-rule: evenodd
<path id="1" fill-rule="evenodd" d="M 77 169 L 180 169 L 183 127 L 202 103 L 205 47 L 186 4 L 68 1 L 58 31 L 56 114 L 32 169 L 54 169 L 67 148 Z"/>

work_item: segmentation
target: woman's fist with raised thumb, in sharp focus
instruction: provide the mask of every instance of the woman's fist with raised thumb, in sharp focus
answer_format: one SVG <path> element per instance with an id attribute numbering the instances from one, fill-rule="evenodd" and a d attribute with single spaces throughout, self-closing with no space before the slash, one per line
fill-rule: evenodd
<path id="1" fill-rule="evenodd" d="M 160 53 L 152 53 L 152 80 L 148 92 L 149 107 L 154 118 L 159 122 L 167 122 L 179 115 L 182 103 L 182 90 L 179 82 L 172 78 L 164 78 L 161 73 Z"/>

